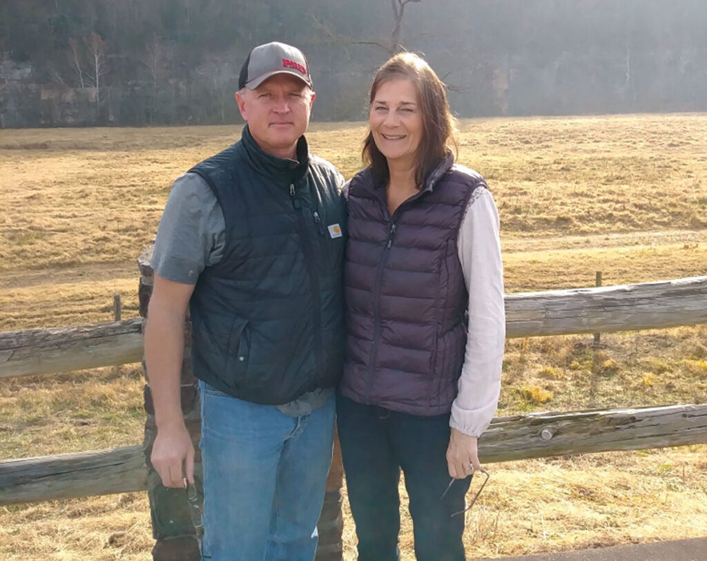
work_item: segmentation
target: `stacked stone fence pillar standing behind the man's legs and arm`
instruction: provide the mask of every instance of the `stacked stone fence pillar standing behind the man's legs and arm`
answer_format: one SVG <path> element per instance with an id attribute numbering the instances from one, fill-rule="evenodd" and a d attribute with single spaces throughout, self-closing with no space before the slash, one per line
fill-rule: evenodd
<path id="1" fill-rule="evenodd" d="M 147 319 L 147 308 L 152 294 L 153 271 L 150 267 L 153 246 L 148 245 L 138 258 L 140 268 L 140 315 Z M 192 373 L 190 359 L 191 332 L 187 318 L 185 324 L 185 353 L 182 362 L 182 413 L 189 434 L 192 436 L 194 448 L 197 451 L 194 466 L 194 479 L 197 482 L 199 497 L 203 501 L 201 487 L 201 454 L 199 453 L 199 436 L 201 432 L 199 408 L 199 388 Z M 148 466 L 148 495 L 152 516 L 152 533 L 156 540 L 152 550 L 153 561 L 199 561 L 199 548 L 194 537 L 192 518 L 187 505 L 185 492 L 181 489 L 163 487 L 159 475 L 150 463 L 152 444 L 156 436 L 154 407 L 150 392 L 148 372 L 143 361 L 146 377 L 145 386 L 145 422 L 144 450 Z M 327 491 L 324 507 L 317 528 L 319 531 L 319 546 L 316 561 L 341 561 L 341 486 L 343 485 L 344 468 L 341 465 L 341 452 L 338 438 L 334 442 L 334 458 L 327 478 Z"/>

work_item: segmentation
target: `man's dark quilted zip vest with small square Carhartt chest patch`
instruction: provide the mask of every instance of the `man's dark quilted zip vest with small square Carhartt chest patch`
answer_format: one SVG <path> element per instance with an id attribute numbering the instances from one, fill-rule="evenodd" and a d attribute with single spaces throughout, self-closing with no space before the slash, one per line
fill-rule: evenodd
<path id="1" fill-rule="evenodd" d="M 341 374 L 346 209 L 341 175 L 242 139 L 194 166 L 226 220 L 226 248 L 189 303 L 194 374 L 236 398 L 288 403 Z"/>

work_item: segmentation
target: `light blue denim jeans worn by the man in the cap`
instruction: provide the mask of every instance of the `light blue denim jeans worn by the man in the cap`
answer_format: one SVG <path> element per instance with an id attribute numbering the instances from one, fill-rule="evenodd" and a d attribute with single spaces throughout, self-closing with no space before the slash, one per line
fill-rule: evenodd
<path id="1" fill-rule="evenodd" d="M 204 559 L 312 561 L 335 399 L 301 417 L 200 382 Z"/>

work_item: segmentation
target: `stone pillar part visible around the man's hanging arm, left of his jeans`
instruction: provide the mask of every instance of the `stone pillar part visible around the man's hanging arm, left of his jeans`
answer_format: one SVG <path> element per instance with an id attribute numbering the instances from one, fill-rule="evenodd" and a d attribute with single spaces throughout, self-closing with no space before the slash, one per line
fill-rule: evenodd
<path id="1" fill-rule="evenodd" d="M 153 271 L 150 267 L 153 246 L 149 245 L 138 258 L 140 268 L 140 315 L 149 321 L 147 308 L 152 294 Z M 192 374 L 191 364 L 191 337 L 189 318 L 185 324 L 185 349 L 182 362 L 181 398 L 182 414 L 185 424 L 192 436 L 196 458 L 194 465 L 194 479 L 197 483 L 199 498 L 203 501 L 204 495 L 201 488 L 201 454 L 199 453 L 199 436 L 201 434 L 201 412 L 199 410 L 199 395 L 197 381 Z M 143 359 L 143 370 L 146 378 L 145 385 L 145 422 L 144 452 L 148 466 L 148 496 L 150 498 L 150 514 L 152 518 L 152 535 L 155 538 L 155 547 L 152 550 L 153 561 L 199 561 L 199 546 L 194 535 L 192 517 L 187 504 L 187 496 L 182 489 L 168 489 L 162 485 L 160 476 L 152 467 L 150 456 L 152 444 L 155 440 L 157 427 L 155 424 L 155 410 L 149 385 L 149 373 Z"/>

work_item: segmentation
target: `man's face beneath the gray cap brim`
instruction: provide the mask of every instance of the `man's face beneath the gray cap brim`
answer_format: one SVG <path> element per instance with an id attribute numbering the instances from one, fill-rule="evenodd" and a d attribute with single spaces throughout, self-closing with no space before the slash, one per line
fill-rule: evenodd
<path id="1" fill-rule="evenodd" d="M 258 146 L 279 158 L 294 157 L 297 141 L 309 125 L 314 97 L 291 74 L 275 74 L 255 90 L 235 94 L 240 115 Z"/>

